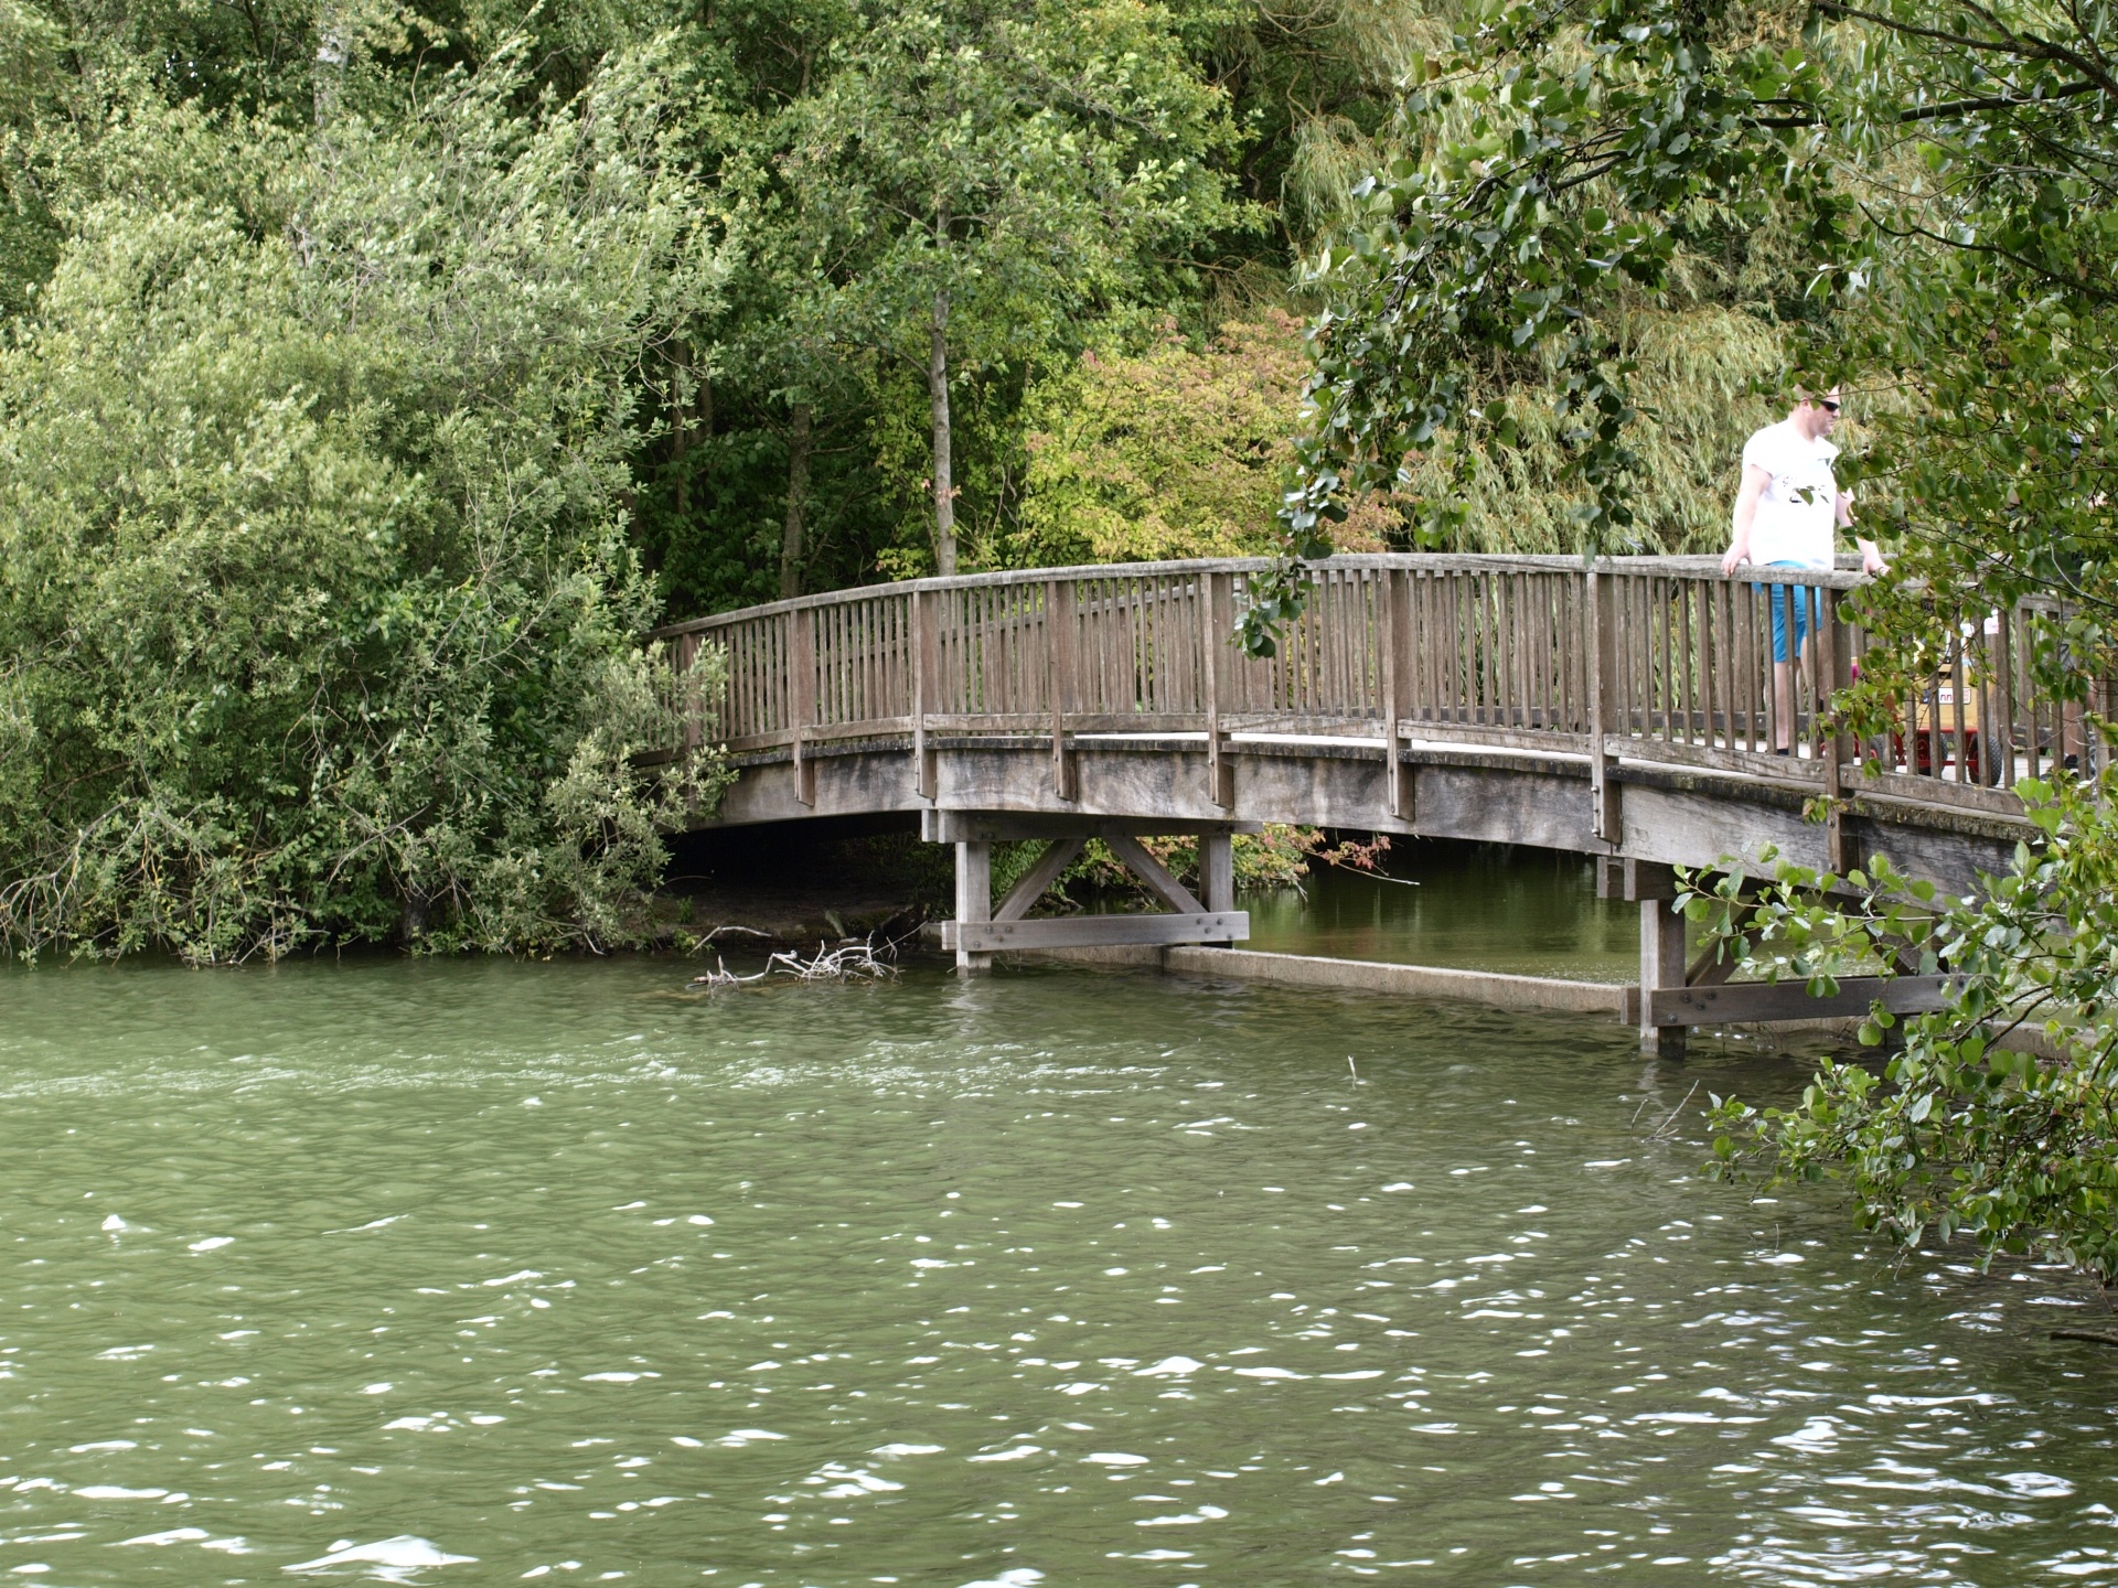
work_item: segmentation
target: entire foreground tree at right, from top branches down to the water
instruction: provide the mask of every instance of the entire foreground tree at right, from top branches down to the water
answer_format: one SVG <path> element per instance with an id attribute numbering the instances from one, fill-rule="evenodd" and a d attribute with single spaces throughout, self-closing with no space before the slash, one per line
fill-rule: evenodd
<path id="1" fill-rule="evenodd" d="M 1480 385 L 1491 368 L 1523 373 L 1559 423 L 1582 542 L 1622 542 L 1641 402 L 1608 326 L 1669 292 L 1682 250 L 1756 227 L 1807 260 L 1777 385 L 1860 396 L 1868 447 L 1847 474 L 1870 529 L 1900 542 L 1893 576 L 1855 597 L 1879 644 L 1841 724 L 1879 728 L 1963 625 L 2040 597 L 2031 673 L 2097 726 L 2093 690 L 2118 673 L 2110 21 L 2038 0 L 1493 13 L 1415 74 L 1419 155 L 1364 184 L 1364 229 L 1320 263 L 1341 299 L 1315 330 L 1284 551 L 1317 555 L 1347 493 L 1421 470 L 1438 470 L 1419 508 L 1440 534 L 1474 470 L 1523 440 L 1519 400 Z M 1292 576 L 1267 591 L 1250 642 L 1269 646 L 1296 599 Z M 2093 771 L 2086 733 L 2069 747 Z M 1847 879 L 1781 868 L 1756 913 L 1741 868 L 1697 885 L 1688 908 L 1764 974 L 1821 991 L 1879 959 L 1961 978 L 1898 1029 L 1887 1084 L 1830 1065 L 1796 1109 L 1724 1105 L 1726 1162 L 1743 1135 L 1783 1173 L 1847 1173 L 1864 1217 L 1906 1243 L 1966 1230 L 2118 1273 L 2118 781 L 2063 771 L 2025 786 L 2038 838 L 1976 898 L 1934 898 L 1887 860 Z M 2046 1063 L 1999 1046 L 2023 1025 Z M 1879 1010 L 1868 1037 L 1889 1029 Z"/>

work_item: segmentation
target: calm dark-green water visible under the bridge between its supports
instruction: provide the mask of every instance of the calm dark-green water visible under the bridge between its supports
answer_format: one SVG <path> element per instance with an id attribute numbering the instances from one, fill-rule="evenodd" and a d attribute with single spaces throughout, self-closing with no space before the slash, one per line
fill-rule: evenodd
<path id="1" fill-rule="evenodd" d="M 1317 866 L 1300 889 L 1245 894 L 1245 949 L 1639 980 L 1639 906 L 1595 896 L 1586 855 L 1396 838 L 1385 881 Z M 1406 887 L 1417 881 L 1417 887 Z"/>

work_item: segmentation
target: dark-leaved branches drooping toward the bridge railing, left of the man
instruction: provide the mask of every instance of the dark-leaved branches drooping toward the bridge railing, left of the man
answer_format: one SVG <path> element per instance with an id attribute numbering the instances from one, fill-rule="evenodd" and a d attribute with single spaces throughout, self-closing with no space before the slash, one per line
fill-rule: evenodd
<path id="1" fill-rule="evenodd" d="M 1313 267 L 1332 307 L 1286 512 L 1296 555 L 1328 544 L 1347 493 L 1411 485 L 1408 457 L 1438 470 L 1444 489 L 1411 508 L 1447 540 L 1478 455 L 1521 438 L 1508 371 L 1548 392 L 1578 534 L 1631 534 L 1637 364 L 1612 311 L 1669 286 L 1688 233 L 1779 205 L 1811 216 L 1813 243 L 1836 237 L 1800 144 L 1819 76 L 1794 42 L 1665 0 L 1531 0 L 1415 64 L 1419 152 L 1360 184 L 1364 212 Z M 1480 390 L 1485 368 L 1502 392 Z"/>

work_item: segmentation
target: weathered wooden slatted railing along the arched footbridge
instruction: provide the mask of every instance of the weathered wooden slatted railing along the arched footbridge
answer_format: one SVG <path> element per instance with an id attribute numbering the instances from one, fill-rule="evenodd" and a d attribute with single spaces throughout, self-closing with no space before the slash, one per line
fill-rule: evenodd
<path id="1" fill-rule="evenodd" d="M 2031 608 L 1991 614 L 1934 658 L 1889 735 L 1824 730 L 1868 635 L 1841 610 L 1851 572 L 1743 570 L 1707 557 L 1334 557 L 1271 658 L 1235 616 L 1260 559 L 1023 570 L 832 591 L 659 631 L 680 671 L 726 663 L 693 739 L 731 752 L 834 739 L 1036 735 L 1055 775 L 1078 735 L 1228 735 L 1453 743 L 1718 769 L 1985 811 L 2065 756 L 2103 754 L 2029 675 Z M 1779 635 L 1775 637 L 1775 625 Z M 1775 667 L 1807 644 L 1792 667 Z M 1783 673 L 1785 678 L 1775 678 Z M 2099 701 L 2107 701 L 2107 686 Z M 1785 754 L 1781 754 L 1785 750 Z M 1857 762 L 1870 775 L 1857 777 Z"/>

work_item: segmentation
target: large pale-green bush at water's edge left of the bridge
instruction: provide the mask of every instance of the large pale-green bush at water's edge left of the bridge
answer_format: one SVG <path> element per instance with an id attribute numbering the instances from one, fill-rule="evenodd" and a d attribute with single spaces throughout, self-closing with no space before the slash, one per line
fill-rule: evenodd
<path id="1" fill-rule="evenodd" d="M 674 680 L 627 371 L 710 299 L 667 61 L 318 136 L 131 93 L 0 354 L 0 938 L 197 961 L 633 932 Z"/>

